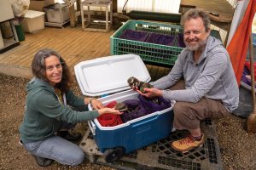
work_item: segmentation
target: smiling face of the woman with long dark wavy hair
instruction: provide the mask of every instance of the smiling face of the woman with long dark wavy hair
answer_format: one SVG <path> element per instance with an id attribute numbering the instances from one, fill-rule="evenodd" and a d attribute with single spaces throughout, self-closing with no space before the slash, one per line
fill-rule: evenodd
<path id="1" fill-rule="evenodd" d="M 61 82 L 62 65 L 61 61 L 55 55 L 51 55 L 44 59 L 45 63 L 45 77 L 48 79 L 49 84 L 55 87 L 56 83 Z"/>

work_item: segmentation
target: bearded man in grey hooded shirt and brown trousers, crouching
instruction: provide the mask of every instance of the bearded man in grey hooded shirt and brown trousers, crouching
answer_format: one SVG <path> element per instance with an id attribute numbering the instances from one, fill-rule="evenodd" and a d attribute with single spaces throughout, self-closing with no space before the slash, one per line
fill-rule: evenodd
<path id="1" fill-rule="evenodd" d="M 172 142 L 174 150 L 185 152 L 202 145 L 201 120 L 229 116 L 238 106 L 239 90 L 230 56 L 210 31 L 208 15 L 201 9 L 184 14 L 186 48 L 166 77 L 150 82 L 154 88 L 144 89 L 146 97 L 163 96 L 177 101 L 173 127 L 187 129 L 190 135 Z M 179 81 L 182 77 L 184 81 Z"/>

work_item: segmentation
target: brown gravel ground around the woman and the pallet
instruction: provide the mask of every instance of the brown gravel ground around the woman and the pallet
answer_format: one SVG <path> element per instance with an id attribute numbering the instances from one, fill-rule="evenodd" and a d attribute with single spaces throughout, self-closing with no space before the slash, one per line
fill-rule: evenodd
<path id="1" fill-rule="evenodd" d="M 38 167 L 33 157 L 18 144 L 19 127 L 26 99 L 25 87 L 28 81 L 26 78 L 0 74 L 0 170 L 43 169 Z M 74 85 L 73 90 L 76 94 L 80 94 L 78 85 Z M 238 116 L 215 121 L 225 170 L 256 169 L 256 136 L 246 132 L 245 122 L 245 119 Z M 83 125 L 79 124 L 75 130 L 83 133 Z M 63 166 L 55 162 L 44 169 L 110 170 L 113 168 L 91 164 L 84 160 L 84 163 L 78 167 Z"/>

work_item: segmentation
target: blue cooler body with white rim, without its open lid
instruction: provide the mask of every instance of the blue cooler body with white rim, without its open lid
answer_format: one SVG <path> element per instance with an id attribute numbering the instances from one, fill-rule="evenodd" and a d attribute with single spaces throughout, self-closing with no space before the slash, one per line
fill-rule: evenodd
<path id="1" fill-rule="evenodd" d="M 137 92 L 127 90 L 100 100 L 106 105 L 113 100 L 119 103 L 137 97 Z M 114 127 L 102 127 L 96 119 L 90 121 L 91 131 L 99 150 L 103 153 L 105 150 L 119 147 L 125 153 L 130 153 L 132 150 L 166 138 L 172 132 L 174 103 L 172 101 L 172 105 L 166 110 L 156 111 Z"/>

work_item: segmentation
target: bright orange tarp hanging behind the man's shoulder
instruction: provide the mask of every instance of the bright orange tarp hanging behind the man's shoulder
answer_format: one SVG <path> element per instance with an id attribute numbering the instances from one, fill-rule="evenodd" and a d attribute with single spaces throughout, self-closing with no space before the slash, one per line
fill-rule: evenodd
<path id="1" fill-rule="evenodd" d="M 249 37 L 252 35 L 252 22 L 255 11 L 256 0 L 250 0 L 241 23 L 227 47 L 238 85 L 240 85 L 241 82 L 241 75 L 246 60 Z"/>

